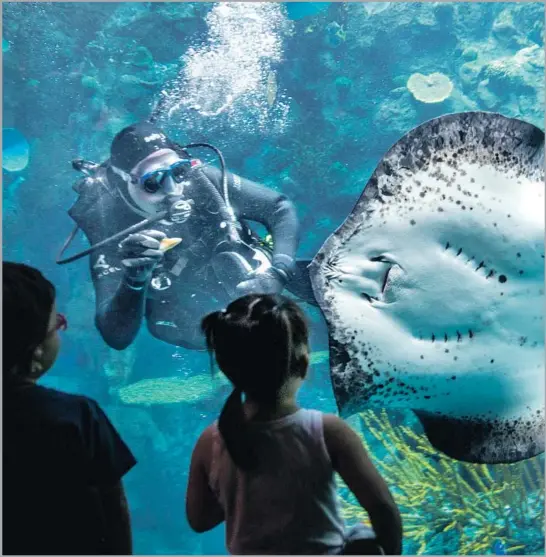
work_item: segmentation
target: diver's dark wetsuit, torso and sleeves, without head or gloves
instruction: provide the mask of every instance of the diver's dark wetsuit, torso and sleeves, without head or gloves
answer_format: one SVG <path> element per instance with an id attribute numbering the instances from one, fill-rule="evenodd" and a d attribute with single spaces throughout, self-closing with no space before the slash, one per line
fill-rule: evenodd
<path id="1" fill-rule="evenodd" d="M 203 173 L 221 192 L 221 172 L 210 166 Z M 239 222 L 248 219 L 262 223 L 273 237 L 273 266 L 288 272 L 294 270 L 298 244 L 298 219 L 294 205 L 282 194 L 264 186 L 228 174 L 230 203 Z M 96 291 L 96 325 L 102 337 L 113 348 L 122 350 L 136 337 L 143 316 L 149 331 L 160 340 L 191 349 L 204 349 L 200 332 L 201 319 L 209 312 L 224 308 L 237 297 L 235 286 L 248 276 L 248 268 L 230 264 L 222 254 L 223 229 L 218 208 L 206 193 L 193 184 L 186 187 L 185 199 L 193 199 L 194 207 L 184 224 L 159 221 L 150 229 L 182 242 L 164 255 L 142 290 L 132 290 L 123 280 L 123 265 L 116 243 L 94 252 L 91 274 Z M 123 201 L 110 210 L 110 219 L 121 230 L 142 220 Z M 112 222 L 105 226 L 112 227 Z M 100 225 L 100 223 L 96 223 Z M 241 234 L 250 240 L 247 227 Z M 245 236 L 245 234 L 247 234 Z M 231 250 L 229 246 L 226 248 Z M 219 253 L 220 252 L 220 253 Z M 252 253 L 245 259 L 253 266 Z M 226 265 L 226 263 L 228 265 Z M 228 268 L 229 267 L 229 268 Z M 167 286 L 168 285 L 168 286 Z"/>

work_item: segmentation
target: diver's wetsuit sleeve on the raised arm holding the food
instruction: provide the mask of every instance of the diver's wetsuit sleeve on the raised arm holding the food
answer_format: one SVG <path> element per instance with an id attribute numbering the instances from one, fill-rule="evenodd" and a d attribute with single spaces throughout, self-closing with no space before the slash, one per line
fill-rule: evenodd
<path id="1" fill-rule="evenodd" d="M 96 294 L 95 325 L 110 347 L 123 350 L 140 329 L 147 285 L 142 290 L 132 290 L 123 280 L 123 265 L 115 242 L 92 253 L 90 266 Z"/>

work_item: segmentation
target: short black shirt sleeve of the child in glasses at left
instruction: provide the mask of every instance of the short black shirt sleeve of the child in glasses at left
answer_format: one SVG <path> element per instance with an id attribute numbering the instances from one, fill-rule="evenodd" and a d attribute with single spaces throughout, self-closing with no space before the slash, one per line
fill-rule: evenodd
<path id="1" fill-rule="evenodd" d="M 86 399 L 84 438 L 89 457 L 88 482 L 114 485 L 136 464 L 136 459 L 101 407 Z"/>

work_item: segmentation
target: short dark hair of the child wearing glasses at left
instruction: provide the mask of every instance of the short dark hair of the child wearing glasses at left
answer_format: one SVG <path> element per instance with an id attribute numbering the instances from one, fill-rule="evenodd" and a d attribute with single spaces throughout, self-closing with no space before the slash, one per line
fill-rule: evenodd
<path id="1" fill-rule="evenodd" d="M 34 350 L 47 335 L 55 287 L 37 269 L 2 262 L 2 365 L 4 379 L 30 371 Z"/>

